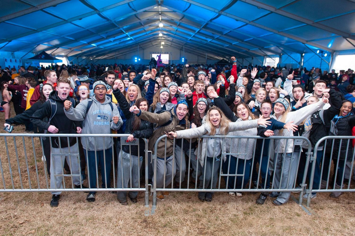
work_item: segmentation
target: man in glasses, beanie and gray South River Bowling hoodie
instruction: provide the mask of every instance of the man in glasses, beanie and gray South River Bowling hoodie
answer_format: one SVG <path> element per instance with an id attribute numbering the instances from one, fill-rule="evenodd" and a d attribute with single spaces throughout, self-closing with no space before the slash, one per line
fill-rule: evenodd
<path id="1" fill-rule="evenodd" d="M 95 95 L 82 101 L 76 108 L 72 108 L 70 101 L 65 102 L 65 115 L 71 120 L 84 121 L 84 134 L 110 134 L 111 129 L 118 130 L 123 121 L 116 105 L 106 96 L 106 84 L 96 81 L 93 90 Z M 82 137 L 81 143 L 87 159 L 89 188 L 96 188 L 96 163 L 101 166 L 102 188 L 110 188 L 113 151 L 111 137 Z M 89 192 L 86 200 L 94 202 L 95 192 Z"/>

